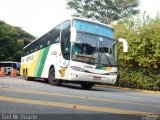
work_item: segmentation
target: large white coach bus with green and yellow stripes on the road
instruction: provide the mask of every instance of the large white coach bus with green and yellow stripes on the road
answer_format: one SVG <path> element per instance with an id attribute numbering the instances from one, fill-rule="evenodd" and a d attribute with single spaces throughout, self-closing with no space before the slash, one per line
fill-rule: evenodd
<path id="1" fill-rule="evenodd" d="M 55 86 L 73 82 L 90 89 L 95 83 L 115 84 L 118 42 L 127 52 L 126 40 L 114 39 L 110 26 L 72 17 L 23 48 L 20 74 Z"/>

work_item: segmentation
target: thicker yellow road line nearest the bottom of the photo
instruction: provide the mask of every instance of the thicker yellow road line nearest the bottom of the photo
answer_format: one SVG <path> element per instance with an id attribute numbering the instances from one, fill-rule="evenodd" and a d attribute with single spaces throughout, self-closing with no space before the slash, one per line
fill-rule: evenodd
<path id="1" fill-rule="evenodd" d="M 0 101 L 34 104 L 34 105 L 44 105 L 44 106 L 50 106 L 50 107 L 61 107 L 61 108 L 78 109 L 78 110 L 88 110 L 88 111 L 95 111 L 95 112 L 126 114 L 126 115 L 155 114 L 155 113 L 142 112 L 142 111 L 132 111 L 132 110 L 124 110 L 124 109 L 87 106 L 87 105 L 80 105 L 80 104 L 67 104 L 67 103 L 61 103 L 61 102 L 49 102 L 49 101 L 13 98 L 13 97 L 5 97 L 5 96 L 0 96 Z"/>

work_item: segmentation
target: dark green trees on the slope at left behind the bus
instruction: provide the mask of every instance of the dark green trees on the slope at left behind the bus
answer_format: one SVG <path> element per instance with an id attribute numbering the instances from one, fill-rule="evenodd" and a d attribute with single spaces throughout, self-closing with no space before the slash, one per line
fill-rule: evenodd
<path id="1" fill-rule="evenodd" d="M 0 21 L 0 61 L 20 61 L 22 48 L 34 36 Z"/>

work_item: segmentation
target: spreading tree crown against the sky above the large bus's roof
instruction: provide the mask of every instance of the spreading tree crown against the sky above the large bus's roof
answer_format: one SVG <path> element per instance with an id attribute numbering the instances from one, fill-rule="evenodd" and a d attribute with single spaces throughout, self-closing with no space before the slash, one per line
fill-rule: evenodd
<path id="1" fill-rule="evenodd" d="M 139 13 L 139 0 L 67 0 L 73 16 L 91 18 L 105 24 Z"/>

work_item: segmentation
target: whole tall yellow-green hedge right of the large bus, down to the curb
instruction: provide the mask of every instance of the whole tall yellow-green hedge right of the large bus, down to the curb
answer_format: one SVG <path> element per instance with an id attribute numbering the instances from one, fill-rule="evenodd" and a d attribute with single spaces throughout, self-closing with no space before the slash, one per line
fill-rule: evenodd
<path id="1" fill-rule="evenodd" d="M 113 26 L 116 38 L 129 44 L 127 54 L 119 47 L 120 85 L 160 90 L 160 16 L 127 18 Z"/>

